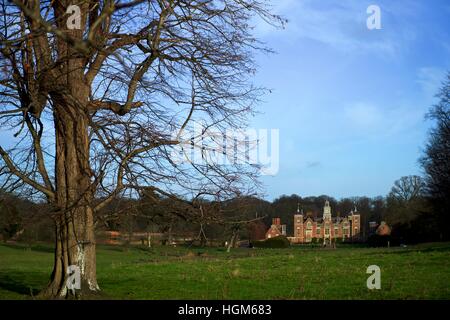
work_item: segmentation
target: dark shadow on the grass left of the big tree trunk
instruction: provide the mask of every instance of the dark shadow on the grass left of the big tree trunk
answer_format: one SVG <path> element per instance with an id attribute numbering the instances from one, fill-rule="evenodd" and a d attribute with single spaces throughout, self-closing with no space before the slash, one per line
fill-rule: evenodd
<path id="1" fill-rule="evenodd" d="M 24 295 L 29 299 L 42 290 L 47 278 L 48 274 L 37 272 L 2 272 L 0 273 L 0 289 Z M 31 279 L 42 279 L 43 281 L 39 284 Z"/>

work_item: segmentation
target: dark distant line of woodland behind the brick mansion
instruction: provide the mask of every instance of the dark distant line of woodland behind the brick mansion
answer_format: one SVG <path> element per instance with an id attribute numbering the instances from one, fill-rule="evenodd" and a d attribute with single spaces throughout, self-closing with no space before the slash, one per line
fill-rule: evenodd
<path id="1" fill-rule="evenodd" d="M 203 201 L 205 218 L 192 220 L 184 215 L 179 203 L 161 198 L 150 201 L 117 198 L 98 213 L 96 230 L 163 233 L 169 238 L 190 235 L 205 245 L 207 240 L 229 242 L 232 239 L 259 240 L 264 237 L 272 218 L 279 217 L 293 234 L 293 215 L 302 210 L 304 215 L 321 217 L 325 200 L 330 201 L 333 217 L 347 216 L 351 211 L 361 215 L 363 238 L 369 236 L 369 222 L 386 221 L 392 227 L 392 236 L 403 243 L 445 240 L 439 213 L 427 193 L 425 179 L 419 176 L 402 177 L 394 183 L 391 192 L 374 198 L 353 197 L 335 199 L 327 195 L 301 197 L 283 195 L 272 202 L 256 197 L 243 197 L 226 202 Z M 11 194 L 2 194 L 0 200 L 0 229 L 3 240 L 50 241 L 53 228 L 43 212 L 46 204 L 36 204 Z M 211 218 L 213 217 L 213 218 Z"/>

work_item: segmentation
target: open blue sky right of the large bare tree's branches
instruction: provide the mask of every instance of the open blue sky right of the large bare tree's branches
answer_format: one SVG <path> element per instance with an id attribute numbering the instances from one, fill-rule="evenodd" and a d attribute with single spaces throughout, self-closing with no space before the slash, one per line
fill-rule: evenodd
<path id="1" fill-rule="evenodd" d="M 366 9 L 381 8 L 381 30 Z M 280 130 L 280 169 L 263 177 L 281 194 L 386 195 L 418 158 L 450 70 L 449 1 L 277 0 L 284 30 L 256 23 L 277 54 L 260 55 L 255 82 L 273 89 L 252 121 Z"/>

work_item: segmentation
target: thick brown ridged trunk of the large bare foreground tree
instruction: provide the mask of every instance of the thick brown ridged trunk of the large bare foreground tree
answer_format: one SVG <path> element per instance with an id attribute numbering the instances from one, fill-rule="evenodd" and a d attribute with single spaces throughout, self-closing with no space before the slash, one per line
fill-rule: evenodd
<path id="1" fill-rule="evenodd" d="M 85 25 L 89 4 L 80 0 L 55 1 L 57 26 L 70 37 L 81 40 L 84 29 L 68 30 L 66 8 L 77 4 Z M 90 168 L 88 101 L 90 85 L 84 79 L 84 57 L 62 39 L 57 39 L 57 54 L 63 63 L 57 79 L 59 90 L 49 93 L 53 104 L 55 130 L 55 259 L 51 281 L 42 292 L 46 298 L 80 298 L 99 291 L 96 276 L 93 199 Z M 80 271 L 80 288 L 68 290 L 72 279 L 68 268 Z"/>

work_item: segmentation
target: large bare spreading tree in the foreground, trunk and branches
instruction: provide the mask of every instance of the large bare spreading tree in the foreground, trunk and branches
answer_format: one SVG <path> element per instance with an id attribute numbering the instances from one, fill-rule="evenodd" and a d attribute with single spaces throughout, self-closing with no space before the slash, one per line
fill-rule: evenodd
<path id="1" fill-rule="evenodd" d="M 257 168 L 208 159 L 224 152 L 226 129 L 245 127 L 264 92 L 250 78 L 252 53 L 267 49 L 250 25 L 283 22 L 266 4 L 2 0 L 1 11 L 1 127 L 14 142 L 0 147 L 0 173 L 3 188 L 53 208 L 54 269 L 43 296 L 70 294 L 70 265 L 81 270 L 78 294 L 99 290 L 95 213 L 124 192 L 145 187 L 174 201 L 255 192 Z M 191 124 L 202 131 L 186 139 Z M 212 130 L 223 139 L 205 146 Z M 199 148 L 201 163 L 189 148 Z"/>

